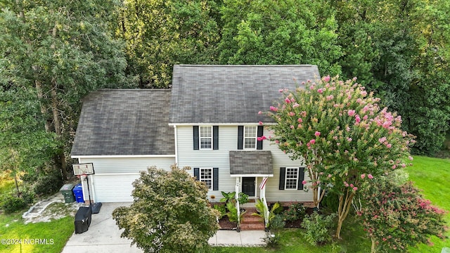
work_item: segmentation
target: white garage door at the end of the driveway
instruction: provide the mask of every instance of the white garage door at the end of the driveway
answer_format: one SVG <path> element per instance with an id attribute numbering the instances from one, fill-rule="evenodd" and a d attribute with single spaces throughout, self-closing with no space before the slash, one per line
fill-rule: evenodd
<path id="1" fill-rule="evenodd" d="M 138 178 L 137 173 L 94 175 L 96 202 L 132 202 L 132 183 Z"/>

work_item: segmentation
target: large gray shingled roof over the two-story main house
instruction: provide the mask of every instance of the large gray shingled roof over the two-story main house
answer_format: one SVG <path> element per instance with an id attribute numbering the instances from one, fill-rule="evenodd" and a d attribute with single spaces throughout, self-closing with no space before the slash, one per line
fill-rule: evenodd
<path id="1" fill-rule="evenodd" d="M 295 89 L 319 79 L 316 65 L 175 65 L 170 123 L 273 122 L 258 115 Z"/>

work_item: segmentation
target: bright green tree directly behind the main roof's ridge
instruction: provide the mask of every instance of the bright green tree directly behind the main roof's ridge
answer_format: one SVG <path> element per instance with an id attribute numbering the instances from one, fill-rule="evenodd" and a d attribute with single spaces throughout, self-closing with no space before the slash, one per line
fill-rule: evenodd
<path id="1" fill-rule="evenodd" d="M 219 44 L 223 64 L 315 64 L 340 74 L 338 24 L 323 1 L 226 0 Z"/>

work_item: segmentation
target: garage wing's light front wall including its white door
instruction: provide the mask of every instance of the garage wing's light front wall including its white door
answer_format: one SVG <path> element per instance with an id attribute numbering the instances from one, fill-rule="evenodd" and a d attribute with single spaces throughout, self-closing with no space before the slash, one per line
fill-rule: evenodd
<path id="1" fill-rule="evenodd" d="M 170 169 L 175 163 L 175 157 L 98 157 L 79 158 L 79 163 L 94 164 L 96 174 L 89 178 L 91 200 L 94 202 L 131 202 L 131 183 L 139 178 L 139 171 L 156 166 L 160 169 Z M 83 182 L 84 200 L 89 200 L 86 181 Z"/>

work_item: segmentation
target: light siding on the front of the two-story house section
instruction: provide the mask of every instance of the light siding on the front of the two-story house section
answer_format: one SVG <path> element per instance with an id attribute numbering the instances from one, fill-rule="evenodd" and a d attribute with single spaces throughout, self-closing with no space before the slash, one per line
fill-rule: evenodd
<path id="1" fill-rule="evenodd" d="M 208 195 L 221 197 L 221 191 L 233 192 L 236 186 L 236 178 L 230 176 L 229 151 L 238 148 L 238 126 L 219 126 L 219 150 L 193 150 L 193 127 L 176 126 L 178 163 L 179 166 L 194 167 L 218 167 L 219 168 L 219 190 L 210 190 Z M 269 130 L 264 128 L 264 135 L 269 136 Z M 312 200 L 312 192 L 304 190 L 278 190 L 280 167 L 301 167 L 302 161 L 290 160 L 278 149 L 277 145 L 266 140 L 263 150 L 270 150 L 274 165 L 274 177 L 267 180 L 266 198 L 269 202 L 276 201 L 299 201 L 309 202 Z M 191 169 L 193 174 L 193 169 Z M 309 179 L 307 173 L 305 180 Z M 262 178 L 257 178 L 257 187 Z M 301 183 L 301 182 L 300 182 Z M 259 190 L 257 191 L 259 196 Z"/>

